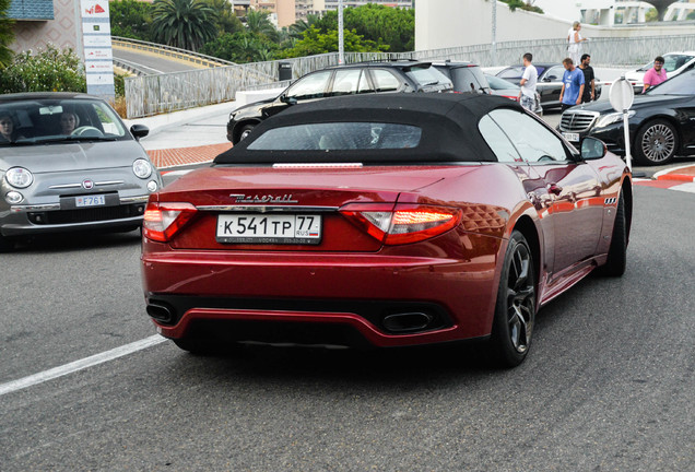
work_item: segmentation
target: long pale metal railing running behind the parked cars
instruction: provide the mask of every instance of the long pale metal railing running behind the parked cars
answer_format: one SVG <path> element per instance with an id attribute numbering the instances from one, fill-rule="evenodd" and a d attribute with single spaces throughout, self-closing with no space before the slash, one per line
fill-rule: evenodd
<path id="1" fill-rule="evenodd" d="M 695 50 L 695 34 L 679 36 L 643 36 L 594 38 L 584 45 L 594 66 L 633 66 L 646 63 L 668 51 Z M 525 52 L 537 62 L 561 62 L 567 57 L 563 39 L 498 43 L 497 63 L 491 59 L 490 45 L 463 46 L 413 52 L 345 52 L 345 62 L 367 60 L 419 59 L 468 60 L 483 67 L 520 63 Z M 170 113 L 234 99 L 239 90 L 283 86 L 278 82 L 280 62 L 292 63 L 293 79 L 308 72 L 338 64 L 338 52 L 282 61 L 254 62 L 213 69 L 126 79 L 128 118 Z"/>

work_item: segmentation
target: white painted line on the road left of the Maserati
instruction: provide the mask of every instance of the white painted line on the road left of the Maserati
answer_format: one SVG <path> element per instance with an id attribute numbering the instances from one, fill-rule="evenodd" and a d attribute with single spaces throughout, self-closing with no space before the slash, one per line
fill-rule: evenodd
<path id="1" fill-rule="evenodd" d="M 105 362 L 114 361 L 118 357 L 122 357 L 128 354 L 142 351 L 144 349 L 151 347 L 156 344 L 161 344 L 166 341 L 167 341 L 166 338 L 155 334 L 150 338 L 145 338 L 143 340 L 136 341 L 133 343 L 126 344 L 120 347 L 113 349 L 110 351 L 103 352 L 101 354 L 95 354 L 93 356 L 85 357 L 83 359 L 75 361 L 70 364 L 66 364 L 59 367 L 44 370 L 43 373 L 34 374 L 28 377 L 21 378 L 19 380 L 12 380 L 7 384 L 1 384 L 0 397 L 2 397 L 5 393 L 11 393 L 17 390 L 22 390 L 27 387 L 43 384 L 45 381 L 52 380 L 55 378 L 62 377 L 64 375 L 85 369 L 87 367 L 93 367 L 95 365 L 103 364 Z"/>

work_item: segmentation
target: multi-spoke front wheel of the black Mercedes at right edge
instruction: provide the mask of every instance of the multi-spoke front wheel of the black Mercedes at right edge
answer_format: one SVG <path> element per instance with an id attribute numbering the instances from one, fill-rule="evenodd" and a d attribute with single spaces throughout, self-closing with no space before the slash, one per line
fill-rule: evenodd
<path id="1" fill-rule="evenodd" d="M 679 134 L 667 120 L 649 121 L 635 138 L 635 161 L 643 165 L 668 164 L 678 150 Z"/>

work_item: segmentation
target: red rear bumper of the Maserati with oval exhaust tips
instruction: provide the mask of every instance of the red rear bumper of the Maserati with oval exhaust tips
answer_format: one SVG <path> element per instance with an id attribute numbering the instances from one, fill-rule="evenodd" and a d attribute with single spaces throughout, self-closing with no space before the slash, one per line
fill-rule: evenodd
<path id="1" fill-rule="evenodd" d="M 502 240 L 494 253 L 475 262 L 350 253 L 152 252 L 148 248 L 158 245 L 144 245 L 148 312 L 166 338 L 212 334 L 334 344 L 326 328 L 349 328 L 369 345 L 399 346 L 490 334 Z M 280 335 L 278 326 L 286 328 Z"/>

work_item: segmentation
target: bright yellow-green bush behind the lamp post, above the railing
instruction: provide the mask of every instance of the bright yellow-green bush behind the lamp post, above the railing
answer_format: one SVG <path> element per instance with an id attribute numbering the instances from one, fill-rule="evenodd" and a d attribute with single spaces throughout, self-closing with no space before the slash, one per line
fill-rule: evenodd
<path id="1" fill-rule="evenodd" d="M 345 51 L 354 52 L 384 51 L 388 49 L 388 45 L 379 46 L 373 40 L 365 39 L 355 30 L 345 30 L 343 32 L 343 46 Z M 293 48 L 284 50 L 283 55 L 285 57 L 302 57 L 335 52 L 337 50 L 338 31 L 333 30 L 322 34 L 319 28 L 311 26 L 304 32 L 303 39 L 298 40 Z"/>

